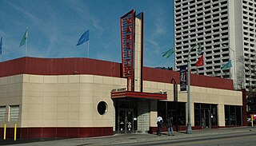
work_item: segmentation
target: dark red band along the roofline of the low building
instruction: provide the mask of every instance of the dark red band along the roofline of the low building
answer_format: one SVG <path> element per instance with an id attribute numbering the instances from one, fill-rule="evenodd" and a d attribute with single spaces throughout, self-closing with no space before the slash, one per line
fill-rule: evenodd
<path id="1" fill-rule="evenodd" d="M 0 62 L 0 77 L 18 74 L 73 75 L 91 74 L 106 77 L 122 77 L 121 64 L 99 61 L 90 58 L 37 58 L 21 57 Z M 143 81 L 170 83 L 172 79 L 179 84 L 179 73 L 171 70 L 143 67 Z M 206 77 L 191 74 L 191 85 L 233 90 L 233 81 L 220 77 Z"/>

